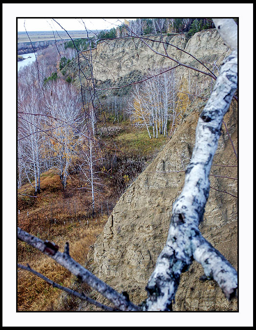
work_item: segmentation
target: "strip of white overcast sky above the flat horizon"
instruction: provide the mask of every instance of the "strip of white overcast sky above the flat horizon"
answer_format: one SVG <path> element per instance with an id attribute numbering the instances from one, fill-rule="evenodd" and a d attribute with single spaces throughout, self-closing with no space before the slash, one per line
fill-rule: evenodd
<path id="1" fill-rule="evenodd" d="M 111 29 L 112 27 L 116 27 L 124 22 L 124 19 L 95 19 L 95 18 L 85 18 L 82 19 L 78 18 L 62 18 L 56 20 L 64 27 L 65 30 L 104 30 L 104 29 Z M 24 28 L 24 21 L 25 27 L 27 31 L 52 31 L 57 30 L 60 31 L 62 28 L 51 18 L 18 18 L 18 31 L 25 31 Z"/>

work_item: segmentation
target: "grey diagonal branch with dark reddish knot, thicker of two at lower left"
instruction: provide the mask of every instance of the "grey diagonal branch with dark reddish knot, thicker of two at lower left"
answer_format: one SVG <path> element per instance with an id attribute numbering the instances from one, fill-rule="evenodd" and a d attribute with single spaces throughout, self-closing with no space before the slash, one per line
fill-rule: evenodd
<path id="1" fill-rule="evenodd" d="M 47 240 L 43 241 L 40 238 L 23 231 L 19 227 L 18 238 L 54 259 L 58 264 L 77 276 L 81 281 L 87 283 L 91 288 L 101 293 L 111 301 L 118 310 L 140 311 L 140 308 L 132 304 L 125 295 L 120 294 L 109 287 L 106 283 L 72 259 L 68 252 L 68 244 L 66 244 L 64 253 L 59 252 L 59 247 L 54 243 L 48 242 Z"/>

